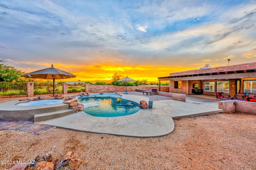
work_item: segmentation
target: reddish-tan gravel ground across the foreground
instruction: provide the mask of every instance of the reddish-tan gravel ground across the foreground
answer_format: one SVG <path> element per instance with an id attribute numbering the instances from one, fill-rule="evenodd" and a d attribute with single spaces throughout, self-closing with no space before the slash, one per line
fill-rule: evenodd
<path id="1" fill-rule="evenodd" d="M 174 124 L 173 133 L 157 138 L 60 128 L 41 135 L 0 131 L 0 160 L 34 160 L 52 150 L 54 159 L 74 151 L 82 159 L 78 170 L 256 170 L 256 115 L 218 113 L 174 119 Z"/>

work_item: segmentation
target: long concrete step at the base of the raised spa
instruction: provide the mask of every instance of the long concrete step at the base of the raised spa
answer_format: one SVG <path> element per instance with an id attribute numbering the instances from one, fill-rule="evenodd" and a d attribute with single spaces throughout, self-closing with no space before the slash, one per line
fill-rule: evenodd
<path id="1" fill-rule="evenodd" d="M 64 109 L 64 110 L 53 111 L 48 113 L 40 113 L 40 114 L 34 115 L 34 122 L 54 119 L 54 118 L 66 116 L 72 113 L 75 113 L 74 109 Z"/>

